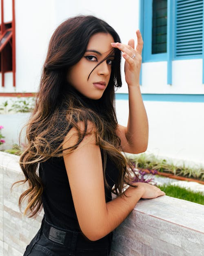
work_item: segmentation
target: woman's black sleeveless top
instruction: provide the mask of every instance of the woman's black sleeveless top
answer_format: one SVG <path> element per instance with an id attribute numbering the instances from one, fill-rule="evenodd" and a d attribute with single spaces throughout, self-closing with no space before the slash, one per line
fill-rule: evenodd
<path id="1" fill-rule="evenodd" d="M 112 188 L 118 179 L 118 170 L 108 156 L 105 175 Z M 53 157 L 40 163 L 39 176 L 44 185 L 42 204 L 47 221 L 57 227 L 81 232 L 63 157 Z M 106 202 L 109 202 L 112 200 L 111 188 L 104 188 Z"/>

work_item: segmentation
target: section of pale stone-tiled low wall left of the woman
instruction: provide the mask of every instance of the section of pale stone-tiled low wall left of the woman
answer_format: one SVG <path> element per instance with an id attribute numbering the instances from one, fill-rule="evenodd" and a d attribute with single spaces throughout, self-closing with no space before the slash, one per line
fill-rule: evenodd
<path id="1" fill-rule="evenodd" d="M 18 198 L 24 185 L 11 190 L 13 182 L 23 179 L 19 157 L 0 152 L 0 255 L 22 256 L 40 228 L 43 212 L 35 219 L 20 213 Z"/>

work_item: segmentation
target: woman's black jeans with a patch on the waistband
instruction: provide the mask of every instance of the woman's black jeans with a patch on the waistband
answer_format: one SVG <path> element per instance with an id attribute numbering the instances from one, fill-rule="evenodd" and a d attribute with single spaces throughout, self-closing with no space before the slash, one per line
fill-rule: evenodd
<path id="1" fill-rule="evenodd" d="M 108 256 L 112 234 L 90 241 L 82 232 L 56 227 L 43 217 L 38 233 L 23 256 Z"/>

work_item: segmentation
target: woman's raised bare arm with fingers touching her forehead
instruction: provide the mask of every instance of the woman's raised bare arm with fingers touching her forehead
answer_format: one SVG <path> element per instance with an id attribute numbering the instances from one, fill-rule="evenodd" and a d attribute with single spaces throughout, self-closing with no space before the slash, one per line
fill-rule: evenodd
<path id="1" fill-rule="evenodd" d="M 129 91 L 129 118 L 127 127 L 118 125 L 118 136 L 124 152 L 141 153 L 148 145 L 149 126 L 146 110 L 140 92 L 140 68 L 142 63 L 142 35 L 137 30 L 137 47 L 131 39 L 128 45 L 116 43 L 112 45 L 121 50 L 125 59 L 125 79 Z M 135 54 L 135 57 L 133 55 Z"/>

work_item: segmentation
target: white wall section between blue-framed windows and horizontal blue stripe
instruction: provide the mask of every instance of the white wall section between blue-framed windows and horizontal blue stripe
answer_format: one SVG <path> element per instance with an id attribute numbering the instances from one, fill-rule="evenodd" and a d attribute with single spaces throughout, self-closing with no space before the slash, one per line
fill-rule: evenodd
<path id="1" fill-rule="evenodd" d="M 204 94 L 202 59 L 172 61 L 172 85 L 167 84 L 167 62 L 142 63 L 142 93 Z"/>

